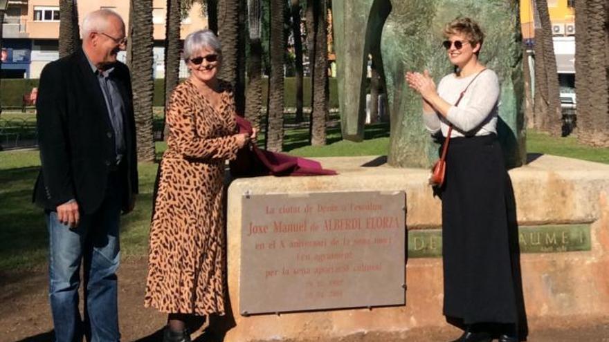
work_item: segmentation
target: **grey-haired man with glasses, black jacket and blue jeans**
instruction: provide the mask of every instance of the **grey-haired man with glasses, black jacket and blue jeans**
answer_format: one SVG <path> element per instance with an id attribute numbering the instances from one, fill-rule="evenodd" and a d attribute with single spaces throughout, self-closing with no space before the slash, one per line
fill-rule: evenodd
<path id="1" fill-rule="evenodd" d="M 138 192 L 129 70 L 116 60 L 125 23 L 111 10 L 82 23 L 82 49 L 42 71 L 37 101 L 42 170 L 34 201 L 49 232 L 56 341 L 119 341 L 119 218 Z M 78 310 L 80 264 L 84 323 Z"/>

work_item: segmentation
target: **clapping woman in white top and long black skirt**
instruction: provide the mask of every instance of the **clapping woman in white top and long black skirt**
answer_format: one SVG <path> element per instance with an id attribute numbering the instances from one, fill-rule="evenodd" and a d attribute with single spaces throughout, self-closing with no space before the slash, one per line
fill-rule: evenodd
<path id="1" fill-rule="evenodd" d="M 436 88 L 427 70 L 406 73 L 430 133 L 451 135 L 442 198 L 444 315 L 464 330 L 453 342 L 524 338 L 524 304 L 511 181 L 497 140 L 499 80 L 478 59 L 484 34 L 469 18 L 444 29 L 455 73 Z M 516 232 L 517 236 L 517 232 Z M 516 244 L 516 245 L 515 245 Z"/>

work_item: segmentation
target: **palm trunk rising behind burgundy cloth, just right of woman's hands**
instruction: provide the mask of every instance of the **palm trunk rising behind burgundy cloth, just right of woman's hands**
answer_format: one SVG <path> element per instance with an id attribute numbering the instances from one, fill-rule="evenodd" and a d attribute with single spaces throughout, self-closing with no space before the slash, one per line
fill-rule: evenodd
<path id="1" fill-rule="evenodd" d="M 284 7 L 284 0 L 271 0 L 271 73 L 269 105 L 266 108 L 266 149 L 275 152 L 281 151 L 283 145 Z"/>

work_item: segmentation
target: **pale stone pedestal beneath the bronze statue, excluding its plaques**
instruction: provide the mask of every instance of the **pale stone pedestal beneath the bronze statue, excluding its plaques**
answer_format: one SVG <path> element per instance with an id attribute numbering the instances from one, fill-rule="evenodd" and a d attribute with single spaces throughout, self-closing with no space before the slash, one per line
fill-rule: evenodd
<path id="1" fill-rule="evenodd" d="M 242 198 L 246 193 L 405 191 L 408 235 L 441 226 L 440 202 L 428 171 L 396 169 L 383 158 L 320 158 L 336 176 L 246 178 L 228 189 L 228 289 L 235 323 L 224 341 L 396 341 L 417 327 L 446 326 L 442 259 L 408 258 L 406 305 L 242 316 L 239 291 Z M 363 166 L 367 165 L 367 166 Z M 532 329 L 609 315 L 609 166 L 543 155 L 510 171 L 521 226 L 589 226 L 589 249 L 521 256 L 525 304 Z M 547 238 L 547 236 L 550 236 Z M 525 236 L 525 239 L 528 237 Z M 535 236 L 531 237 L 535 243 Z M 546 235 L 549 244 L 561 235 Z M 537 236 L 537 239 L 539 237 Z M 522 243 L 522 242 L 521 242 Z M 354 284 L 356 286 L 356 284 Z M 264 292 L 264 288 L 260 288 Z M 229 315 L 230 321 L 230 315 Z M 213 326 L 213 324 L 212 324 Z M 365 336 L 376 336 L 364 339 Z"/>

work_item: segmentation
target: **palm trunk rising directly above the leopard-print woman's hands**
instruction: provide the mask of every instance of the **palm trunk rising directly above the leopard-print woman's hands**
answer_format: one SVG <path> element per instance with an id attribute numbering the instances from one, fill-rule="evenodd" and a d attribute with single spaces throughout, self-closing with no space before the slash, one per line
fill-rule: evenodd
<path id="1" fill-rule="evenodd" d="M 248 0 L 248 32 L 250 54 L 247 60 L 247 96 L 245 116 L 256 128 L 260 128 L 262 108 L 262 3 Z"/>

